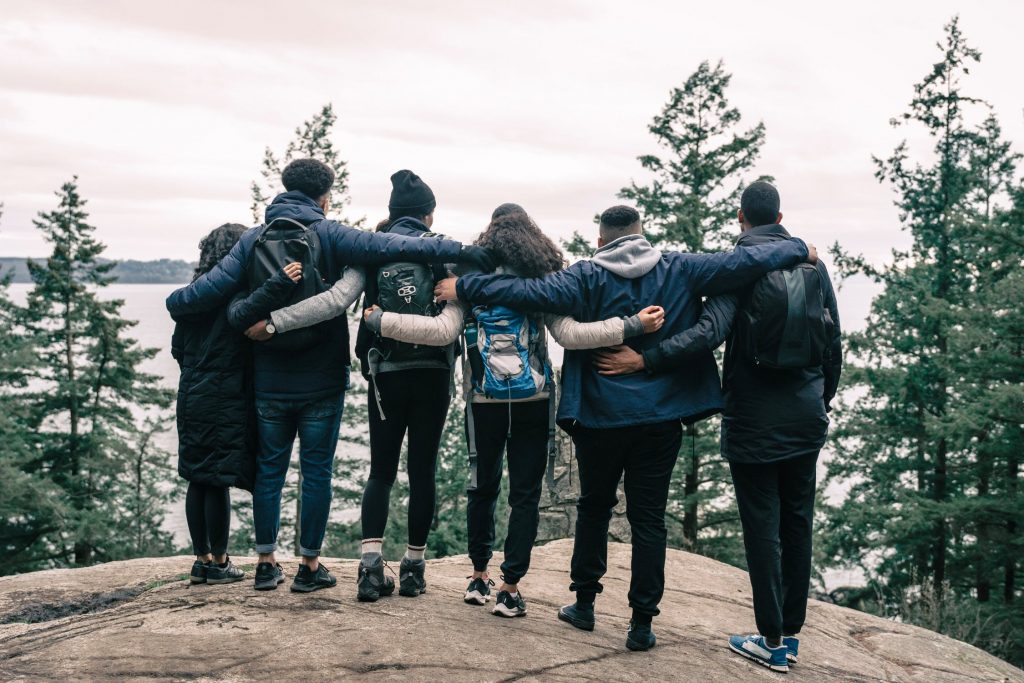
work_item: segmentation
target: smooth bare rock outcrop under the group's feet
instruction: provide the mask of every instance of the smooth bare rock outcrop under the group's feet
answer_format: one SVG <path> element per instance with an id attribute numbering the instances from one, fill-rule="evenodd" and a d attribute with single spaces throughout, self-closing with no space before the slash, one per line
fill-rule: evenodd
<path id="1" fill-rule="evenodd" d="M 724 646 L 753 628 L 742 571 L 670 551 L 658 645 L 634 653 L 624 646 L 629 547 L 609 550 L 593 633 L 555 620 L 570 600 L 570 552 L 571 541 L 536 550 L 522 585 L 529 614 L 514 621 L 463 604 L 465 557 L 431 560 L 426 595 L 374 604 L 355 601 L 352 560 L 326 560 L 339 586 L 311 595 L 288 584 L 257 593 L 250 581 L 189 587 L 185 557 L 0 579 L 0 680 L 781 680 Z M 812 602 L 787 680 L 1019 683 L 1024 672 L 924 629 Z"/>

